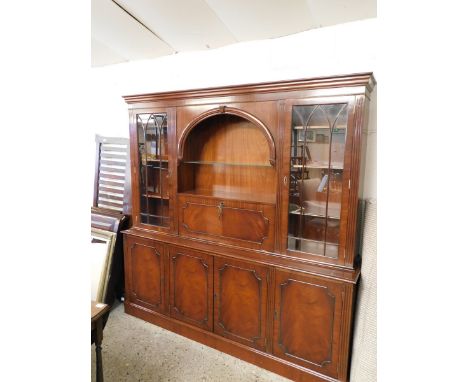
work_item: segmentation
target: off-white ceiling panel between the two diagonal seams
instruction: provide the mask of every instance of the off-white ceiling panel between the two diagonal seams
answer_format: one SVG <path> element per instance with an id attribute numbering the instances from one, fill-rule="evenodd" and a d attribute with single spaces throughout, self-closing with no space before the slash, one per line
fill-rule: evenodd
<path id="1" fill-rule="evenodd" d="M 176 51 L 218 48 L 236 42 L 204 0 L 117 0 Z"/>

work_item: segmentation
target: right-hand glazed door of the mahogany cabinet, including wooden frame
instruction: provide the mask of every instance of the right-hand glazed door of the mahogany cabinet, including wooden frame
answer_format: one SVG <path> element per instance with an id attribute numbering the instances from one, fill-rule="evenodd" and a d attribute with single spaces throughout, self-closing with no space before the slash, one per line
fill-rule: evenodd
<path id="1" fill-rule="evenodd" d="M 359 151 L 353 146 L 360 132 L 355 111 L 354 97 L 285 105 L 281 232 L 282 247 L 292 256 L 352 265 L 346 249 L 355 208 L 350 190 L 359 183 L 351 182 L 352 158 Z"/>

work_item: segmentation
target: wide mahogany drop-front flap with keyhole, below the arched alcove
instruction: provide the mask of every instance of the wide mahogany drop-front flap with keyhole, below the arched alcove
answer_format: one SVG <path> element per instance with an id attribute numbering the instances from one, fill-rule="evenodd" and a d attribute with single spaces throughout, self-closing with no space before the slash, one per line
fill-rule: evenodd
<path id="1" fill-rule="evenodd" d="M 179 194 L 181 235 L 273 250 L 275 206 Z"/>

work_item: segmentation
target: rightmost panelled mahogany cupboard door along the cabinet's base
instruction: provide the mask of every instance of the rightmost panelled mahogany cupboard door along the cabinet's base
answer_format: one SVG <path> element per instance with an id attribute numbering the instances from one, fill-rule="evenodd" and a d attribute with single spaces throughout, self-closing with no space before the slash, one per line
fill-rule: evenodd
<path id="1" fill-rule="evenodd" d="M 275 277 L 274 355 L 337 378 L 342 285 L 279 270 Z"/>

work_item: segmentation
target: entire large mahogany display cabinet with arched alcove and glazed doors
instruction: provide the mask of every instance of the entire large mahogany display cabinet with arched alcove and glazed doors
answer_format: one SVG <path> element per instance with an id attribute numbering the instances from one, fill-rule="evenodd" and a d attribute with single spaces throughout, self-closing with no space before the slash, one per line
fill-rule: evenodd
<path id="1" fill-rule="evenodd" d="M 295 381 L 347 381 L 374 84 L 124 97 L 125 311 Z"/>

